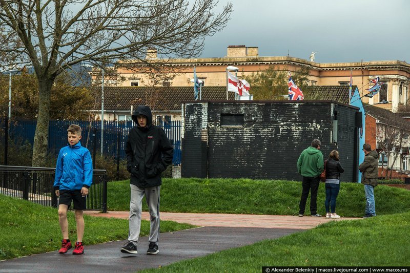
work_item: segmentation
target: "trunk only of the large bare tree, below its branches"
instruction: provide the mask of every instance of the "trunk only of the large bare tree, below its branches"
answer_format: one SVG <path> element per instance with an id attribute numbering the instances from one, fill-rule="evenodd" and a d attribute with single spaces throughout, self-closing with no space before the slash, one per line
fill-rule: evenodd
<path id="1" fill-rule="evenodd" d="M 54 79 L 38 80 L 38 116 L 34 134 L 33 167 L 43 166 L 48 148 L 50 122 L 50 94 Z"/>

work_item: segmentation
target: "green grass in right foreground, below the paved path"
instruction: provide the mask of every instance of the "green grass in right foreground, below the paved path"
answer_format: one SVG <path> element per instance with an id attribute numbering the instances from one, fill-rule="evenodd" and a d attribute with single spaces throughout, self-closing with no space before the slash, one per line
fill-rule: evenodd
<path id="1" fill-rule="evenodd" d="M 410 212 L 332 221 L 306 232 L 181 261 L 161 272 L 260 272 L 262 266 L 409 266 Z M 144 272 L 155 272 L 156 269 Z"/>

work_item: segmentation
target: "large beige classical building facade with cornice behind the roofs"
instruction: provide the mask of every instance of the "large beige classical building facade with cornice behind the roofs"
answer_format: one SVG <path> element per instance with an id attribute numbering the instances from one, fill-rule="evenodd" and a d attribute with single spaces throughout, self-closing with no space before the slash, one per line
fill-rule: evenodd
<path id="1" fill-rule="evenodd" d="M 157 55 L 151 49 L 147 60 L 155 61 Z M 400 60 L 359 61 L 342 63 L 318 63 L 291 56 L 259 56 L 257 47 L 229 46 L 227 56 L 220 58 L 173 59 L 168 64 L 173 72 L 161 73 L 161 79 L 155 83 L 147 73 L 133 72 L 119 68 L 117 73 L 122 79 L 117 86 L 193 86 L 193 69 L 204 86 L 226 86 L 227 67 L 234 66 L 238 78 L 267 70 L 274 66 L 277 70 L 297 71 L 301 67 L 309 68 L 310 85 L 335 86 L 348 85 L 352 71 L 353 85 L 358 86 L 362 95 L 368 93 L 369 81 L 379 77 L 382 84 L 380 92 L 373 98 L 363 97 L 363 102 L 377 104 L 379 107 L 395 112 L 400 103 L 406 104 L 410 99 L 410 64 Z M 252 87 L 251 87 L 252 93 Z"/>

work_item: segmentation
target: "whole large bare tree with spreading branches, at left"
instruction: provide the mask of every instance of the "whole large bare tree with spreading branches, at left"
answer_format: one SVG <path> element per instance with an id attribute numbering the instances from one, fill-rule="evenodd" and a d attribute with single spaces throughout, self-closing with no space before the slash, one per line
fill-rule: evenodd
<path id="1" fill-rule="evenodd" d="M 30 65 L 39 101 L 33 166 L 47 153 L 51 87 L 83 62 L 160 69 L 166 59 L 198 56 L 204 38 L 228 23 L 232 4 L 219 14 L 217 0 L 0 0 L 0 55 Z M 159 58 L 146 59 L 155 48 Z"/>

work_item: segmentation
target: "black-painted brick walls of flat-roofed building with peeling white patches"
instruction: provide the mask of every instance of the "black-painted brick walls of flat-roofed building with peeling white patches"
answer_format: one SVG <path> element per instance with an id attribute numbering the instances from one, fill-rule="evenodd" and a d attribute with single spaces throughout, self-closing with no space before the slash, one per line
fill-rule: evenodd
<path id="1" fill-rule="evenodd" d="M 341 180 L 356 180 L 355 108 L 331 102 L 287 101 L 203 102 L 183 107 L 182 177 L 300 180 L 297 159 L 318 138 L 324 158 L 333 149 L 339 151 L 346 170 Z M 332 143 L 335 111 L 337 145 Z M 243 114 L 243 124 L 221 126 L 220 115 L 227 113 Z M 203 122 L 208 130 L 203 130 Z M 208 138 L 201 138 L 204 131 Z"/>

